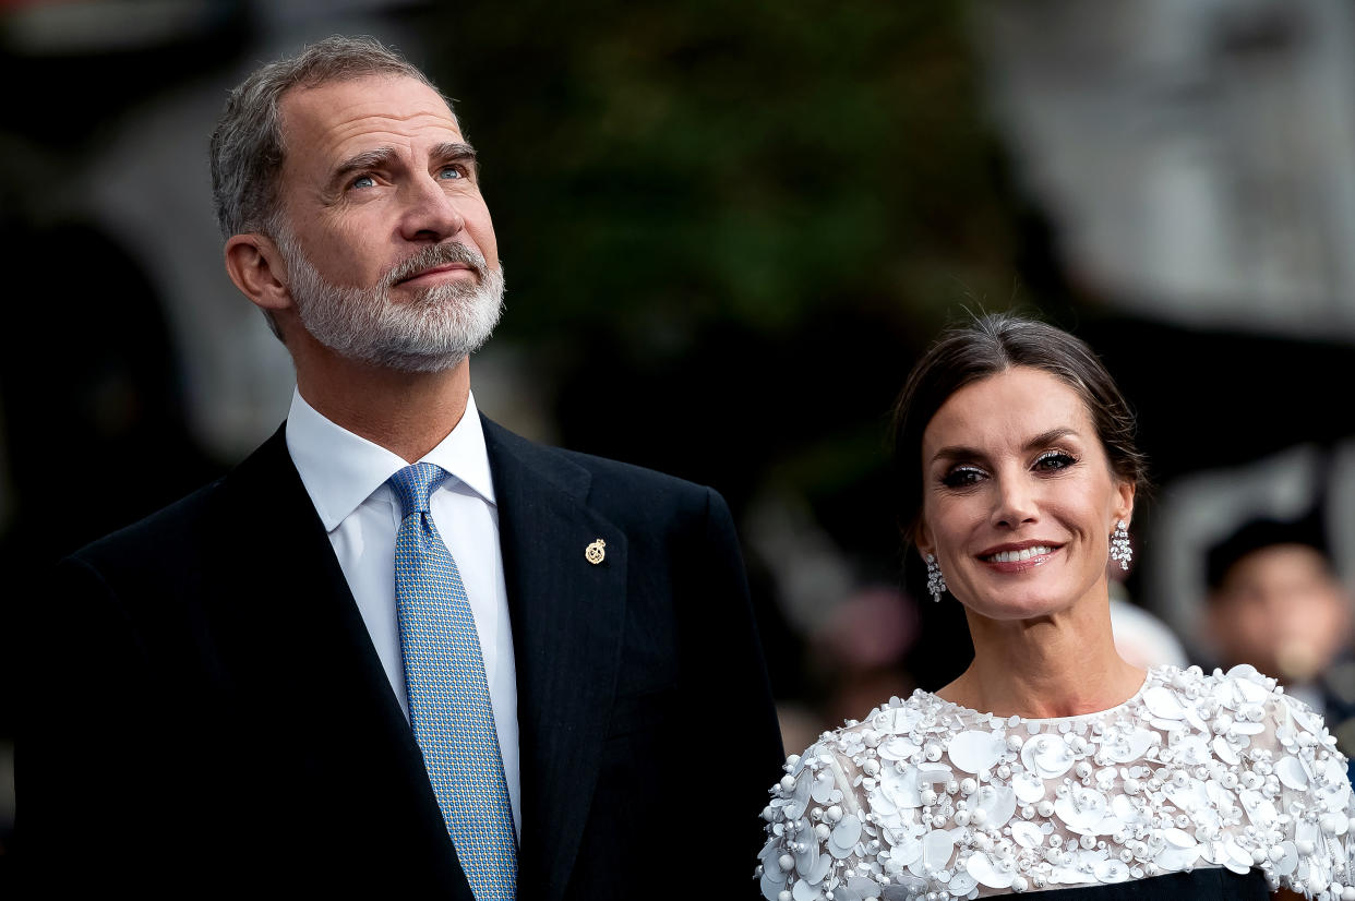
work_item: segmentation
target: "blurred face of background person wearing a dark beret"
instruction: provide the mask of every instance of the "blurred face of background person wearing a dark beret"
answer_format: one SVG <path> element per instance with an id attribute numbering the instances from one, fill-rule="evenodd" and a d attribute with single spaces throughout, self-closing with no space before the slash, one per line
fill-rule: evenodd
<path id="1" fill-rule="evenodd" d="M 1341 649 L 1350 612 L 1318 551 L 1274 545 L 1233 564 L 1210 599 L 1209 623 L 1226 663 L 1301 684 Z"/>

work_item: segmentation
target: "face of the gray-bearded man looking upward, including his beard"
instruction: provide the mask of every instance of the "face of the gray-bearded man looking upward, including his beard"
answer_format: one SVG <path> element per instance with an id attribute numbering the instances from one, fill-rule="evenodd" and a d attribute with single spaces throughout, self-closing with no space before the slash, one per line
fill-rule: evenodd
<path id="1" fill-rule="evenodd" d="M 302 325 L 343 356 L 454 366 L 503 305 L 474 152 L 425 84 L 373 76 L 282 99 L 278 244 Z"/>

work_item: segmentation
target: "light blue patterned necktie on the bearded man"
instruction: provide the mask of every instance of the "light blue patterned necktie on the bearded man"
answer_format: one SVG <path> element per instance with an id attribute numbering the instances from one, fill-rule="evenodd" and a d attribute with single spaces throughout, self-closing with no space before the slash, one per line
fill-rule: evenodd
<path id="1" fill-rule="evenodd" d="M 518 844 L 485 658 L 457 562 L 428 512 L 428 495 L 444 478 L 440 467 L 415 463 L 388 480 L 404 511 L 396 610 L 409 719 L 476 900 L 511 900 Z"/>

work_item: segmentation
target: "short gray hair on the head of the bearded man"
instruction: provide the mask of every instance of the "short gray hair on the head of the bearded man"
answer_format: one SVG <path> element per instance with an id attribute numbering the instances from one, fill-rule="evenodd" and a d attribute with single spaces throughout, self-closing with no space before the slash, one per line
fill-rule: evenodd
<path id="1" fill-rule="evenodd" d="M 230 92 L 211 133 L 211 196 L 225 237 L 276 229 L 278 173 L 286 152 L 278 108 L 282 95 L 295 87 L 373 75 L 416 79 L 438 91 L 417 66 L 375 38 L 333 35 L 294 57 L 255 69 Z"/>

